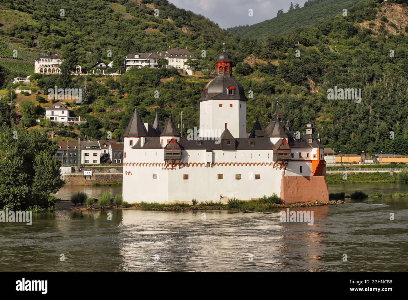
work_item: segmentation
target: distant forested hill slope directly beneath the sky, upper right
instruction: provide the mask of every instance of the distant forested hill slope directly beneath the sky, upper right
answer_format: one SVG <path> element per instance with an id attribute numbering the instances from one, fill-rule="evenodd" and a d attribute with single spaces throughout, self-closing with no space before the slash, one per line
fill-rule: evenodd
<path id="1" fill-rule="evenodd" d="M 282 35 L 293 27 L 317 24 L 335 16 L 341 16 L 343 9 L 349 9 L 365 0 L 309 0 L 304 7 L 287 11 L 271 20 L 251 26 L 228 28 L 232 33 L 246 37 L 264 39 L 268 34 Z"/>

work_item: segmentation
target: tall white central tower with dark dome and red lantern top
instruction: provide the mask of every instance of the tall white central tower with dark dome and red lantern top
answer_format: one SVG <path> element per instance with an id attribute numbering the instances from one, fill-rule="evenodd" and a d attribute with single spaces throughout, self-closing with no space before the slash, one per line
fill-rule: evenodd
<path id="1" fill-rule="evenodd" d="M 234 138 L 246 138 L 244 87 L 233 78 L 231 59 L 224 51 L 217 59 L 217 75 L 200 98 L 200 137 L 219 138 L 228 127 Z"/>

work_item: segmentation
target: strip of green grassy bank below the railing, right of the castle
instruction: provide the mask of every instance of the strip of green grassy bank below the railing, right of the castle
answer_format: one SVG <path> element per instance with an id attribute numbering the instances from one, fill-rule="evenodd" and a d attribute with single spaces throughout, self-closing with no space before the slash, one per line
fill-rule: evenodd
<path id="1" fill-rule="evenodd" d="M 347 178 L 347 179 L 344 179 Z M 408 171 L 399 173 L 374 172 L 374 173 L 347 173 L 344 177 L 342 173 L 326 174 L 328 184 L 333 183 L 408 183 Z"/>

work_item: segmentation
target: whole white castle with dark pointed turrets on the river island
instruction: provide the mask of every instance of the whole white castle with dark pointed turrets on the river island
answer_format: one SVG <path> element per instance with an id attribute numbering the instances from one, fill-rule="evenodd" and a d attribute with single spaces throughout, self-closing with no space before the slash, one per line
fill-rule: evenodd
<path id="1" fill-rule="evenodd" d="M 180 137 L 171 116 L 153 126 L 137 109 L 124 133 L 123 196 L 134 202 L 251 200 L 276 193 L 285 203 L 327 201 L 324 145 L 312 123 L 295 133 L 276 106 L 270 124 L 246 132 L 244 87 L 225 50 L 200 98 L 200 135 Z"/>

